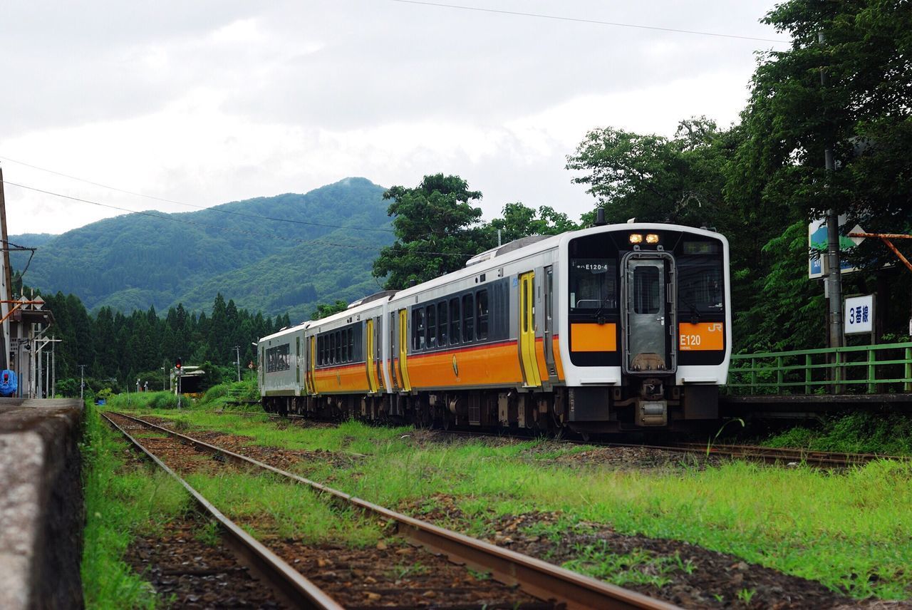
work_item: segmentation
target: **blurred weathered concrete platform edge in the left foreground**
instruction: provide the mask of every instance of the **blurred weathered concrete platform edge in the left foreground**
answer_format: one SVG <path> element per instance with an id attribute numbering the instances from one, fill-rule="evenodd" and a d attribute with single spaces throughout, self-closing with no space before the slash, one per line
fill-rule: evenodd
<path id="1" fill-rule="evenodd" d="M 0 608 L 81 608 L 78 399 L 0 398 Z"/>

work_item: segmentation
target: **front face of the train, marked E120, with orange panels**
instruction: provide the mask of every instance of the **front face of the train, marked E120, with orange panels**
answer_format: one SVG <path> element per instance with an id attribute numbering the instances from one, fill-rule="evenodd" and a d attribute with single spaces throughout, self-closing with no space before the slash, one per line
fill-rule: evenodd
<path id="1" fill-rule="evenodd" d="M 583 433 L 718 419 L 731 357 L 729 244 L 627 223 L 561 241 L 566 425 Z"/>

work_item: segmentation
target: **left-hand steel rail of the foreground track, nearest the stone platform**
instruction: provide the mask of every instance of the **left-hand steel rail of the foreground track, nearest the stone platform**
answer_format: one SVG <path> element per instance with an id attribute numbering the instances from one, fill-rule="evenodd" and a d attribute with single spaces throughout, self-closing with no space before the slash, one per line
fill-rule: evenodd
<path id="1" fill-rule="evenodd" d="M 219 511 L 212 502 L 206 500 L 199 491 L 193 489 L 190 483 L 184 481 L 179 474 L 171 470 L 163 461 L 153 455 L 149 450 L 140 444 L 140 441 L 134 439 L 130 433 L 121 428 L 116 421 L 110 419 L 106 413 L 101 414 L 107 419 L 112 426 L 118 429 L 130 442 L 146 454 L 150 460 L 155 462 L 161 470 L 171 475 L 176 481 L 181 483 L 202 508 L 208 512 L 222 526 L 223 532 L 227 535 L 227 542 L 233 551 L 240 554 L 254 570 L 262 575 L 270 586 L 281 592 L 296 607 L 315 608 L 320 610 L 342 610 L 343 606 L 339 605 L 332 597 L 327 595 L 316 584 L 311 583 L 306 577 L 295 570 L 291 565 L 285 563 L 278 555 L 267 549 L 263 543 L 258 542 L 249 533 L 244 532 L 236 523 L 228 519 L 223 512 Z"/>

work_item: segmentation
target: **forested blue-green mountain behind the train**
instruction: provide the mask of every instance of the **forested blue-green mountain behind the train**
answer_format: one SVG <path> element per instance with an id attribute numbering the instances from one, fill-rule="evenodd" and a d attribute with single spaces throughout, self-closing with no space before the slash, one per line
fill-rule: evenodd
<path id="1" fill-rule="evenodd" d="M 47 236 L 43 244 L 41 234 L 10 241 L 40 246 L 26 284 L 73 293 L 89 309 L 154 305 L 161 311 L 183 303 L 201 310 L 222 293 L 239 307 L 296 321 L 317 303 L 378 290 L 371 264 L 393 241 L 393 233 L 378 231 L 391 228 L 384 190 L 347 178 L 306 194 L 199 212 L 127 214 Z M 13 267 L 21 270 L 27 253 L 13 254 Z"/>

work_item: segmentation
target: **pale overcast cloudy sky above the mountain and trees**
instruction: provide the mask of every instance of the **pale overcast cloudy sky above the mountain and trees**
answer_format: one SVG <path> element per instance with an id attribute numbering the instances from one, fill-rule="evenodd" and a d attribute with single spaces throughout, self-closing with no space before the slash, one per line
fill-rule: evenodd
<path id="1" fill-rule="evenodd" d="M 786 47 L 593 22 L 782 40 L 758 23 L 772 5 L 5 2 L 9 232 L 63 233 L 123 213 L 9 182 L 186 212 L 99 185 L 208 206 L 347 176 L 413 186 L 438 171 L 482 191 L 486 218 L 515 201 L 575 218 L 593 200 L 570 182 L 565 157 L 587 130 L 671 135 L 693 115 L 727 125 L 744 106 L 754 53 Z"/>

